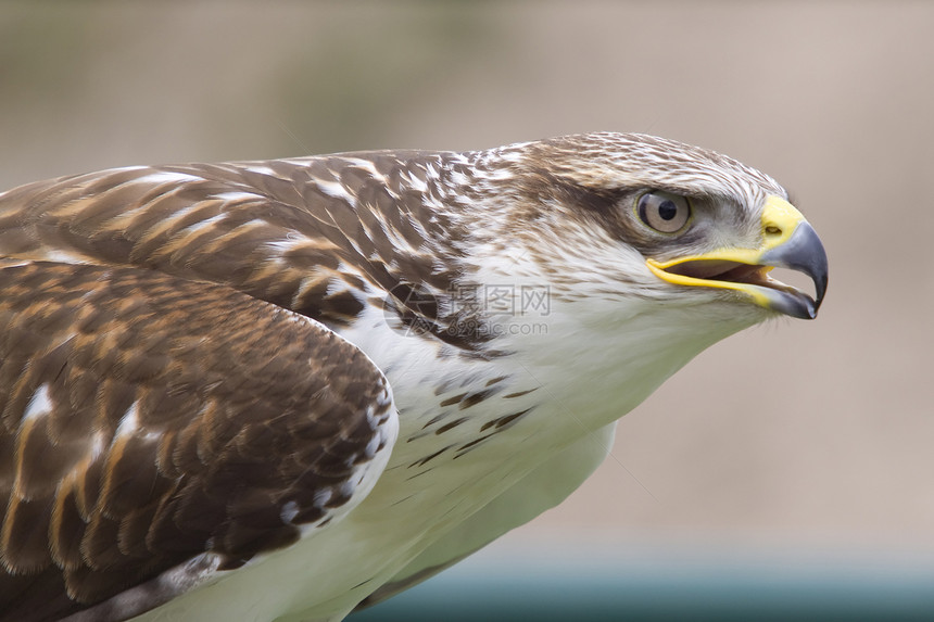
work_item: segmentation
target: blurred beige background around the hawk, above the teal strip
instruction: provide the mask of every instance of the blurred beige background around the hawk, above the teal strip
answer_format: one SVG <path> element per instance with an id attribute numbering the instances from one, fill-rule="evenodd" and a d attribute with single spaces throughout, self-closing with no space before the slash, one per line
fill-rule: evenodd
<path id="1" fill-rule="evenodd" d="M 783 182 L 817 321 L 699 356 L 508 543 L 934 551 L 934 4 L 2 2 L 0 187 L 109 166 L 589 130 Z"/>

